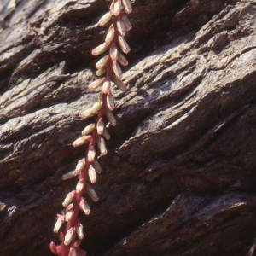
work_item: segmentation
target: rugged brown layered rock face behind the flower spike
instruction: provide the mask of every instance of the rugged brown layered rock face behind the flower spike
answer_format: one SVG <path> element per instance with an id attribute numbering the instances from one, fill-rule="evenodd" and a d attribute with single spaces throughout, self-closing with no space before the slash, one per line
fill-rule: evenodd
<path id="1" fill-rule="evenodd" d="M 61 182 L 96 93 L 103 0 L 2 0 L 1 255 L 51 255 Z M 246 255 L 256 236 L 255 1 L 133 3 L 88 255 Z M 107 26 L 104 28 L 107 29 Z M 104 30 L 103 29 L 103 30 Z M 135 63 L 137 63 L 135 65 Z"/>

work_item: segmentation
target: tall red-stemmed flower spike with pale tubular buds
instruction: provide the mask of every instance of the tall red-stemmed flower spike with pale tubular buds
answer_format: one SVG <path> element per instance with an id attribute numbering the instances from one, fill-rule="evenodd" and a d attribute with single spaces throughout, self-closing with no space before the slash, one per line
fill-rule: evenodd
<path id="1" fill-rule="evenodd" d="M 125 33 L 131 30 L 131 23 L 126 16 L 126 14 L 131 14 L 131 11 L 130 0 L 113 0 L 108 13 L 99 20 L 100 26 L 104 26 L 108 21 L 113 20 L 113 23 L 109 26 L 105 42 L 92 50 L 92 55 L 101 55 L 108 50 L 108 55 L 102 57 L 96 63 L 96 75 L 102 76 L 104 73 L 106 75 L 104 78 L 97 79 L 89 85 L 90 90 L 94 90 L 99 86 L 102 86 L 102 90 L 98 101 L 91 108 L 86 109 L 84 113 L 81 113 L 83 119 L 96 114 L 96 121 L 94 124 L 87 125 L 82 131 L 82 137 L 73 142 L 73 147 L 89 144 L 86 156 L 79 160 L 74 171 L 67 172 L 62 176 L 63 180 L 77 177 L 79 182 L 76 189 L 67 194 L 63 201 L 63 207 L 65 208 L 61 214 L 57 215 L 54 232 L 58 233 L 64 223 L 66 223 L 66 228 L 59 235 L 61 246 L 56 246 L 54 242 L 50 243 L 49 247 L 56 255 L 84 256 L 86 254 L 84 250 L 79 248 L 84 238 L 84 231 L 78 215 L 79 210 L 82 210 L 86 215 L 90 214 L 90 207 L 83 197 L 84 194 L 90 195 L 93 201 L 99 200 L 95 190 L 87 183 L 87 177 L 90 178 L 90 183 L 96 183 L 96 173 L 102 172 L 102 168 L 96 160 L 96 145 L 100 152 L 99 156 L 107 154 L 104 138 L 108 140 L 110 136 L 104 120 L 107 119 L 110 125 L 116 125 L 116 120 L 112 113 L 114 99 L 111 93 L 111 82 L 120 90 L 127 90 L 126 85 L 121 80 L 122 71 L 120 65 L 126 66 L 128 61 L 120 50 L 125 54 L 130 51 L 130 47 L 124 37 Z"/>

